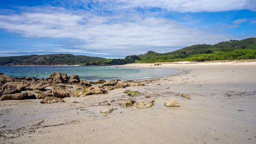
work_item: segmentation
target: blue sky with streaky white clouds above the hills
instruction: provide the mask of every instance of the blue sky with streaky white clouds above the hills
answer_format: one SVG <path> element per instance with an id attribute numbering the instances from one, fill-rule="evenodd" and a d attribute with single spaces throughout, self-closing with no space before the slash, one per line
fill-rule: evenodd
<path id="1" fill-rule="evenodd" d="M 0 56 L 124 58 L 256 37 L 256 0 L 3 0 Z"/>

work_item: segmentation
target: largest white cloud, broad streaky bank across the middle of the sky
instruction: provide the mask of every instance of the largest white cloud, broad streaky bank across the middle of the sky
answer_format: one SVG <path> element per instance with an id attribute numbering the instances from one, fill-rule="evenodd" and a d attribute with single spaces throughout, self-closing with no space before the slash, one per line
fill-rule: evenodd
<path id="1" fill-rule="evenodd" d="M 148 50 L 169 52 L 175 47 L 236 39 L 189 28 L 168 18 L 145 17 L 137 12 L 99 16 L 88 11 L 53 7 L 0 15 L 0 28 L 25 37 L 79 40 L 73 45 L 74 50 L 56 47 L 57 52 L 122 56 Z"/>

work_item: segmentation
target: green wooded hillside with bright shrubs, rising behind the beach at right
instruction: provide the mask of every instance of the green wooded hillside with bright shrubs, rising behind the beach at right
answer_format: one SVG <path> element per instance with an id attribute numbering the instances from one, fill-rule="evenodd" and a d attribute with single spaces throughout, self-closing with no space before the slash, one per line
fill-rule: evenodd
<path id="1" fill-rule="evenodd" d="M 140 60 L 135 62 L 144 63 L 256 59 L 256 38 L 230 40 L 214 45 L 198 44 L 168 53 L 148 51 L 138 56 Z"/>

